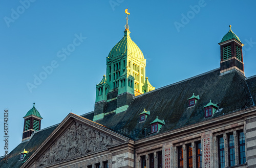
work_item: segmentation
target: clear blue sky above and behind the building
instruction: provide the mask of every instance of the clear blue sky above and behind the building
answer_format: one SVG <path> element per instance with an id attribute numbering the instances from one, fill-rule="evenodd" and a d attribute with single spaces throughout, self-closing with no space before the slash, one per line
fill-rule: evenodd
<path id="1" fill-rule="evenodd" d="M 70 112 L 94 110 L 95 85 L 123 37 L 126 8 L 146 76 L 160 88 L 220 67 L 218 43 L 229 25 L 245 44 L 245 76 L 256 75 L 255 6 L 240 0 L 1 1 L 0 155 L 5 109 L 9 152 L 22 140 L 23 117 L 34 102 L 44 118 L 41 129 Z"/>

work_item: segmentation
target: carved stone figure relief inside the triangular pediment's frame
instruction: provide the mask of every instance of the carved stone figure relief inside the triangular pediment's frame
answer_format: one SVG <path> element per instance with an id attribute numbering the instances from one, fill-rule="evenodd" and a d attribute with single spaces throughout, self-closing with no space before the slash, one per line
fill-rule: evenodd
<path id="1" fill-rule="evenodd" d="M 107 135 L 74 122 L 50 149 L 41 156 L 37 162 L 37 167 L 44 167 L 62 160 L 76 158 L 117 143 Z"/>

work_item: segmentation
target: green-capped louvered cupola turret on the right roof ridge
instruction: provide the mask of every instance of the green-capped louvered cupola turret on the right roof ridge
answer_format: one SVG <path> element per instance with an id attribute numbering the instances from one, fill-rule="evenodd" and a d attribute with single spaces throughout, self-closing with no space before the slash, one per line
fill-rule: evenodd
<path id="1" fill-rule="evenodd" d="M 221 75 L 224 75 L 232 70 L 237 70 L 244 75 L 243 62 L 243 43 L 239 37 L 234 34 L 229 25 L 229 31 L 219 43 L 221 47 Z"/>

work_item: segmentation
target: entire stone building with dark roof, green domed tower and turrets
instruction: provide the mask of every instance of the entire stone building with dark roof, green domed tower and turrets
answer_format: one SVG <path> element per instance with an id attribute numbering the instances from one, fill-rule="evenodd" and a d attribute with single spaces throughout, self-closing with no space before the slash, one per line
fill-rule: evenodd
<path id="1" fill-rule="evenodd" d="M 34 105 L 22 143 L 0 166 L 256 167 L 256 76 L 244 76 L 243 43 L 231 26 L 219 44 L 220 68 L 155 89 L 126 22 L 94 111 L 40 130 Z"/>

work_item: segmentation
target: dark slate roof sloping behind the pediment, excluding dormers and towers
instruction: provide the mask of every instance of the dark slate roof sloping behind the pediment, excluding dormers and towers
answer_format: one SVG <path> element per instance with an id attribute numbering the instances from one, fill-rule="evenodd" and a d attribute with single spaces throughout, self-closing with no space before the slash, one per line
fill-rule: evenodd
<path id="1" fill-rule="evenodd" d="M 195 106 L 188 107 L 187 99 L 191 97 L 193 92 L 200 96 L 200 100 Z M 218 103 L 223 110 L 205 118 L 203 107 L 210 100 Z M 131 139 L 138 140 L 144 138 L 142 133 L 144 128 L 147 128 L 147 136 L 161 134 L 255 106 L 254 102 L 256 102 L 256 76 L 245 79 L 237 71 L 220 76 L 220 68 L 218 68 L 138 95 L 125 112 L 106 115 L 96 122 Z M 144 109 L 150 110 L 151 115 L 147 116 L 145 122 L 139 122 L 139 114 Z M 92 121 L 94 112 L 81 116 Z M 159 132 L 150 134 L 150 123 L 157 116 L 164 119 L 165 125 Z M 0 167 L 20 167 L 22 162 L 33 154 L 57 126 L 58 124 L 42 129 L 36 132 L 29 141 L 20 143 L 9 154 L 8 164 L 0 159 Z M 29 153 L 23 160 L 19 161 L 18 154 L 24 149 L 28 150 Z"/>

